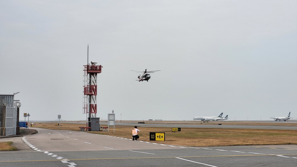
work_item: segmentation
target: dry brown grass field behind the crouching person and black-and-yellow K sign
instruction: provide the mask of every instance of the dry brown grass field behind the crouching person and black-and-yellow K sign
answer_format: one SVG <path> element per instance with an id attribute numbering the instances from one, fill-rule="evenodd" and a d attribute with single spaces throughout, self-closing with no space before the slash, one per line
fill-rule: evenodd
<path id="1" fill-rule="evenodd" d="M 60 123 L 60 130 L 79 131 L 83 124 Z M 37 123 L 34 127 L 58 130 L 56 123 Z M 116 126 L 110 132 L 91 132 L 102 135 L 132 138 L 132 128 Z M 149 132 L 164 132 L 165 141 L 152 141 L 179 146 L 233 146 L 233 145 L 277 145 L 297 144 L 297 130 L 266 130 L 266 129 L 221 129 L 221 128 L 182 128 L 181 132 L 172 132 L 168 127 L 141 127 L 141 141 L 149 141 Z"/>

